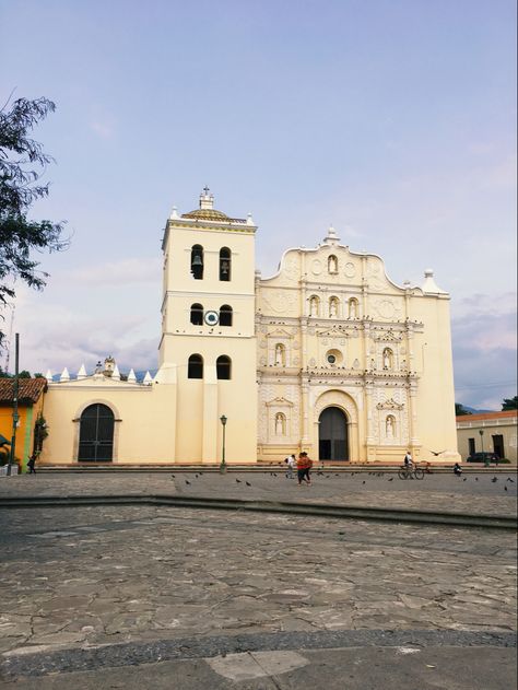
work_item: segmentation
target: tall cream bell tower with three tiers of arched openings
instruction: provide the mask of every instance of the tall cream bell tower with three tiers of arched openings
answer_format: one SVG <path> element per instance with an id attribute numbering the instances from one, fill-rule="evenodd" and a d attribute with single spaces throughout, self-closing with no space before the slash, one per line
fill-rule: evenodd
<path id="1" fill-rule="evenodd" d="M 256 461 L 255 234 L 251 217 L 173 209 L 164 239 L 160 371 L 176 383 L 175 460 Z"/>

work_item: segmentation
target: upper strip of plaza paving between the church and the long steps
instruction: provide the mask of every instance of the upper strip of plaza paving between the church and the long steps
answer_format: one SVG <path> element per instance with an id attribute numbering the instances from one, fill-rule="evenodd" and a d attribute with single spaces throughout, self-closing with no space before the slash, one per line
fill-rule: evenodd
<path id="1" fill-rule="evenodd" d="M 495 477 L 496 481 L 492 481 Z M 261 473 L 232 471 L 223 476 L 173 469 L 154 473 L 38 473 L 0 478 L 0 498 L 155 493 L 516 515 L 517 486 L 516 468 L 498 473 L 466 472 L 460 478 L 452 473 L 434 473 L 422 481 L 402 481 L 393 472 L 330 470 L 318 473 L 317 470 L 313 472 L 311 487 L 298 487 L 295 479 L 285 479 L 282 469 Z"/>

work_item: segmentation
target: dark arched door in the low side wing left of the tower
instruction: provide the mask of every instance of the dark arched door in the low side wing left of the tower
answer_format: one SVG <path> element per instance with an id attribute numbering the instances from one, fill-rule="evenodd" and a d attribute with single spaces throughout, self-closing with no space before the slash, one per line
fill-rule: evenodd
<path id="1" fill-rule="evenodd" d="M 106 405 L 90 405 L 81 414 L 78 460 L 110 463 L 115 417 Z"/>

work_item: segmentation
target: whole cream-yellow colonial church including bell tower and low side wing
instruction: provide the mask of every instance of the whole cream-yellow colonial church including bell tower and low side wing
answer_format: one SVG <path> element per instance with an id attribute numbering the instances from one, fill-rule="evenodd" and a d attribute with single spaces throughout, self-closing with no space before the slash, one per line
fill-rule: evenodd
<path id="1" fill-rule="evenodd" d="M 154 378 L 116 363 L 48 374 L 42 463 L 399 461 L 458 458 L 449 295 L 425 272 L 397 285 L 382 260 L 340 244 L 255 266 L 251 217 L 174 209 L 163 238 Z M 436 452 L 436 451 L 435 451 Z"/>

